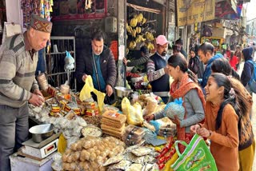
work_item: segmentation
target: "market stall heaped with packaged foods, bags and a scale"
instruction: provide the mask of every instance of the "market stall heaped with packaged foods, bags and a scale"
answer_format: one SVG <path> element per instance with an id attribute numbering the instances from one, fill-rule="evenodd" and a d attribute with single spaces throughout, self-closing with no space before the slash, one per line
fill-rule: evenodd
<path id="1" fill-rule="evenodd" d="M 164 108 L 161 99 L 152 93 L 135 96 L 119 89 L 122 100 L 117 108 L 91 97 L 84 99 L 83 93 L 88 92 L 87 88 L 86 92 L 63 92 L 48 85 L 43 91 L 45 104 L 30 105 L 30 118 L 40 124 L 30 128 L 33 137 L 11 157 L 17 163 L 14 170 L 18 165 L 43 170 L 164 168 L 175 153 L 176 125 L 167 117 L 154 124 L 143 119 Z M 38 133 L 50 134 L 38 137 Z"/>

